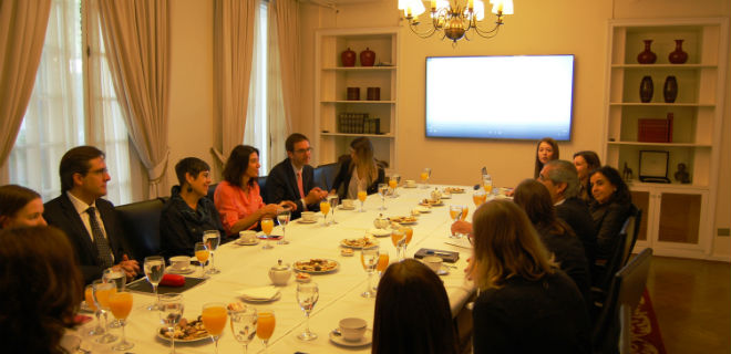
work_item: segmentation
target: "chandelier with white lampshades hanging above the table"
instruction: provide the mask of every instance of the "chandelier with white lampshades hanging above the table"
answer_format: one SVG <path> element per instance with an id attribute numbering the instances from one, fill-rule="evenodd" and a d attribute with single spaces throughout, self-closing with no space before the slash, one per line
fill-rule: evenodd
<path id="1" fill-rule="evenodd" d="M 484 38 L 497 35 L 500 27 L 503 25 L 503 18 L 513 14 L 513 0 L 490 0 L 490 3 L 493 6 L 492 12 L 496 15 L 492 28 L 483 24 L 485 6 L 481 0 L 431 0 L 432 23 L 423 25 L 426 29 L 421 29 L 419 20 L 419 15 L 426 10 L 422 0 L 399 0 L 399 10 L 403 10 L 409 28 L 416 35 L 429 38 L 436 32 L 443 32 L 442 39 L 447 38 L 452 41 L 452 45 L 456 45 L 456 42 L 463 38 L 470 40 L 467 32 L 471 30 Z"/>

